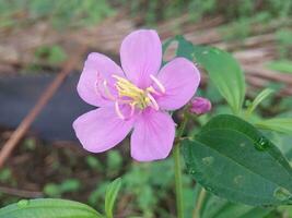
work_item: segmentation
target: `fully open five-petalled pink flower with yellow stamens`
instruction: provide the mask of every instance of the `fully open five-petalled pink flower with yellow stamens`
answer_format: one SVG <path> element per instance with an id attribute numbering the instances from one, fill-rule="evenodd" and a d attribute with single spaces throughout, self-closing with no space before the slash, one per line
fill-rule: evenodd
<path id="1" fill-rule="evenodd" d="M 148 29 L 124 39 L 120 62 L 122 70 L 104 55 L 89 55 L 78 93 L 100 108 L 74 121 L 75 134 L 86 150 L 102 153 L 133 130 L 133 159 L 166 158 L 175 137 L 175 123 L 166 111 L 190 100 L 200 82 L 199 71 L 185 58 L 175 58 L 160 70 L 161 40 L 155 31 Z"/>

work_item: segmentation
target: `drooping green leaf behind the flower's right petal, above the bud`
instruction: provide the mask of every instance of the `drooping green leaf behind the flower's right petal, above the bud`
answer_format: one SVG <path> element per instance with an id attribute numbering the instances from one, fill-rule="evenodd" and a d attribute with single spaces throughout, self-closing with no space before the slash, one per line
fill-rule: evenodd
<path id="1" fill-rule="evenodd" d="M 245 97 L 245 78 L 238 62 L 229 52 L 218 48 L 192 46 L 182 36 L 177 40 L 177 56 L 205 68 L 233 112 L 240 113 Z"/>

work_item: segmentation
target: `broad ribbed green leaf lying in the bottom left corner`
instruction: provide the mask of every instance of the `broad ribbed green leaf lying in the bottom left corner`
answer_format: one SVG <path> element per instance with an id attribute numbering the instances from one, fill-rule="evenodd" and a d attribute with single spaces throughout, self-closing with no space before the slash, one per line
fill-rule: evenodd
<path id="1" fill-rule="evenodd" d="M 92 207 L 68 199 L 21 199 L 2 207 L 1 218 L 103 218 Z"/>

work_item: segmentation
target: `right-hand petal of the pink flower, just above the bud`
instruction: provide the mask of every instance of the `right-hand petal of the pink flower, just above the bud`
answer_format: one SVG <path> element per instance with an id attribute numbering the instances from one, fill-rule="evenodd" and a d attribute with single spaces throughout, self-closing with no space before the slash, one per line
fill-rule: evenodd
<path id="1" fill-rule="evenodd" d="M 157 80 L 165 88 L 165 94 L 156 98 L 159 106 L 165 110 L 176 110 L 195 95 L 200 73 L 189 60 L 176 58 L 162 68 Z"/>

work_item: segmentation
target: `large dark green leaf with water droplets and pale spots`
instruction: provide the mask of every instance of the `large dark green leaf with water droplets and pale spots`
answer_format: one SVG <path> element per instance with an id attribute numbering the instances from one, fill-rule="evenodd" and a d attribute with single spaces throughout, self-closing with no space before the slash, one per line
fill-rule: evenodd
<path id="1" fill-rule="evenodd" d="M 189 173 L 208 191 L 248 205 L 292 199 L 292 169 L 259 131 L 234 116 L 218 116 L 183 141 Z"/>

